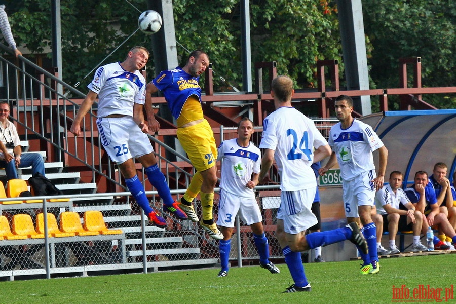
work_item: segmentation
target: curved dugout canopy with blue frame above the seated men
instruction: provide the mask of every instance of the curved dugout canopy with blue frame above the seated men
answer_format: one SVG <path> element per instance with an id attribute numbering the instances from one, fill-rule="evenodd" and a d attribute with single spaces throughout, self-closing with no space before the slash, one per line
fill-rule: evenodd
<path id="1" fill-rule="evenodd" d="M 387 111 L 360 119 L 370 125 L 388 148 L 385 181 L 391 171 L 404 173 L 404 180 L 413 183 L 416 171 L 432 174 L 434 164 L 448 166 L 452 181 L 456 167 L 456 109 Z M 378 168 L 378 154 L 374 154 Z"/>

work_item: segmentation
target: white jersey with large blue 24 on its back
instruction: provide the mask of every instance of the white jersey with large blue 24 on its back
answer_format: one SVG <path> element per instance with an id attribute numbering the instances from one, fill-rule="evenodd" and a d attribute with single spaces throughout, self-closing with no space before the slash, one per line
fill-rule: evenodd
<path id="1" fill-rule="evenodd" d="M 327 144 L 311 119 L 294 107 L 280 107 L 264 119 L 259 147 L 275 151 L 280 188 L 297 191 L 317 186 L 313 151 Z"/>

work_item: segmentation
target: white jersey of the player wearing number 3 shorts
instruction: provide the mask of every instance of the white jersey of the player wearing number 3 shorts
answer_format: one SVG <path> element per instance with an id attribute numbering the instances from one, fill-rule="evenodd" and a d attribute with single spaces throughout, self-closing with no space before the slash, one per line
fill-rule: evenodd
<path id="1" fill-rule="evenodd" d="M 245 185 L 252 173 L 260 172 L 260 155 L 252 142 L 248 147 L 241 147 L 236 138 L 223 141 L 218 147 L 218 160 L 222 160 L 220 188 L 239 197 L 254 198 L 253 190 Z"/>

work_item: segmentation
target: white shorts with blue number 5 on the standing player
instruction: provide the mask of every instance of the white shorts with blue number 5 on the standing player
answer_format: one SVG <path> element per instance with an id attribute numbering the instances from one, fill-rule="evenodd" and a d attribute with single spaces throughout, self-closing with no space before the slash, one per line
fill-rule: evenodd
<path id="1" fill-rule="evenodd" d="M 359 217 L 358 206 L 374 205 L 375 186 L 372 180 L 375 177 L 375 170 L 370 170 L 352 180 L 342 182 L 346 217 Z"/>

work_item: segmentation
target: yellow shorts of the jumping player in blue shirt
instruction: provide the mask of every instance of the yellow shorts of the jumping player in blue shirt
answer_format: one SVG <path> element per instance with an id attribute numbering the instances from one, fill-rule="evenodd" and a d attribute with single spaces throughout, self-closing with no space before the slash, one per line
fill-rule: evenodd
<path id="1" fill-rule="evenodd" d="M 215 166 L 217 146 L 214 132 L 207 120 L 193 126 L 177 128 L 177 138 L 197 171 Z"/>

